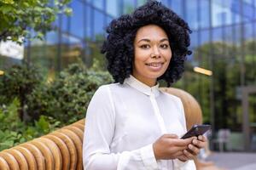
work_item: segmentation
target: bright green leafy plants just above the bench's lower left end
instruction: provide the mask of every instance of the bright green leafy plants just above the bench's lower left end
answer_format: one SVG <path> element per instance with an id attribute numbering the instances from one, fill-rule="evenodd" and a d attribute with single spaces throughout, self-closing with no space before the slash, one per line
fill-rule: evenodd
<path id="1" fill-rule="evenodd" d="M 21 122 L 18 115 L 19 99 L 9 105 L 0 106 L 0 151 L 37 138 L 60 127 L 60 122 L 52 117 L 40 116 L 38 121 Z"/>

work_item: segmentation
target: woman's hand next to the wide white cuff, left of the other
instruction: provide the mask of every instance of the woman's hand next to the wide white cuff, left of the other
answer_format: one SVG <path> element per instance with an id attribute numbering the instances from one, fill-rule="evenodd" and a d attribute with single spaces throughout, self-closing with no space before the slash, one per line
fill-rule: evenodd
<path id="1" fill-rule="evenodd" d="M 156 160 L 180 158 L 184 155 L 183 150 L 189 149 L 188 146 L 193 139 L 196 139 L 196 137 L 178 139 L 176 134 L 164 134 L 153 144 L 154 157 Z"/>

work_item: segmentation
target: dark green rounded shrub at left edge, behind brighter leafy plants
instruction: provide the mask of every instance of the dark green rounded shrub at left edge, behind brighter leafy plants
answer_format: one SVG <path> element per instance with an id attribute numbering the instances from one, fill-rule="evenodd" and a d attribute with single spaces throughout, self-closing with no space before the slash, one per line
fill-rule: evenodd
<path id="1" fill-rule="evenodd" d="M 33 89 L 40 86 L 43 77 L 38 68 L 33 65 L 14 65 L 0 77 L 0 104 L 8 105 L 15 98 L 20 101 L 18 115 L 20 120 L 28 119 L 26 108 L 28 96 Z"/>

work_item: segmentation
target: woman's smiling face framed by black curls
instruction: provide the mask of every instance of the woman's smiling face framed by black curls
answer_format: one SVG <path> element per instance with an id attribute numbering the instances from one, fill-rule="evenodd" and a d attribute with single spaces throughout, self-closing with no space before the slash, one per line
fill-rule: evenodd
<path id="1" fill-rule="evenodd" d="M 160 26 L 148 25 L 138 29 L 134 40 L 132 76 L 152 87 L 162 76 L 172 58 L 166 31 Z"/>

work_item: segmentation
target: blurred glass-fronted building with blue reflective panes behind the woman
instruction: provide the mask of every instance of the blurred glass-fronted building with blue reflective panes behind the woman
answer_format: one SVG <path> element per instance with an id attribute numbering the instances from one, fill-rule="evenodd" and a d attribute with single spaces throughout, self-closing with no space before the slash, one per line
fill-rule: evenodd
<path id="1" fill-rule="evenodd" d="M 49 80 L 80 59 L 104 67 L 100 47 L 108 23 L 145 0 L 73 0 L 73 15 L 59 15 L 44 41 L 0 55 L 0 68 L 23 59 L 40 65 Z M 191 50 L 175 85 L 199 101 L 212 124 L 212 149 L 256 150 L 256 0 L 162 0 L 189 23 Z M 172 40 L 171 40 L 172 41 Z M 202 70 L 205 69 L 205 70 Z"/>

